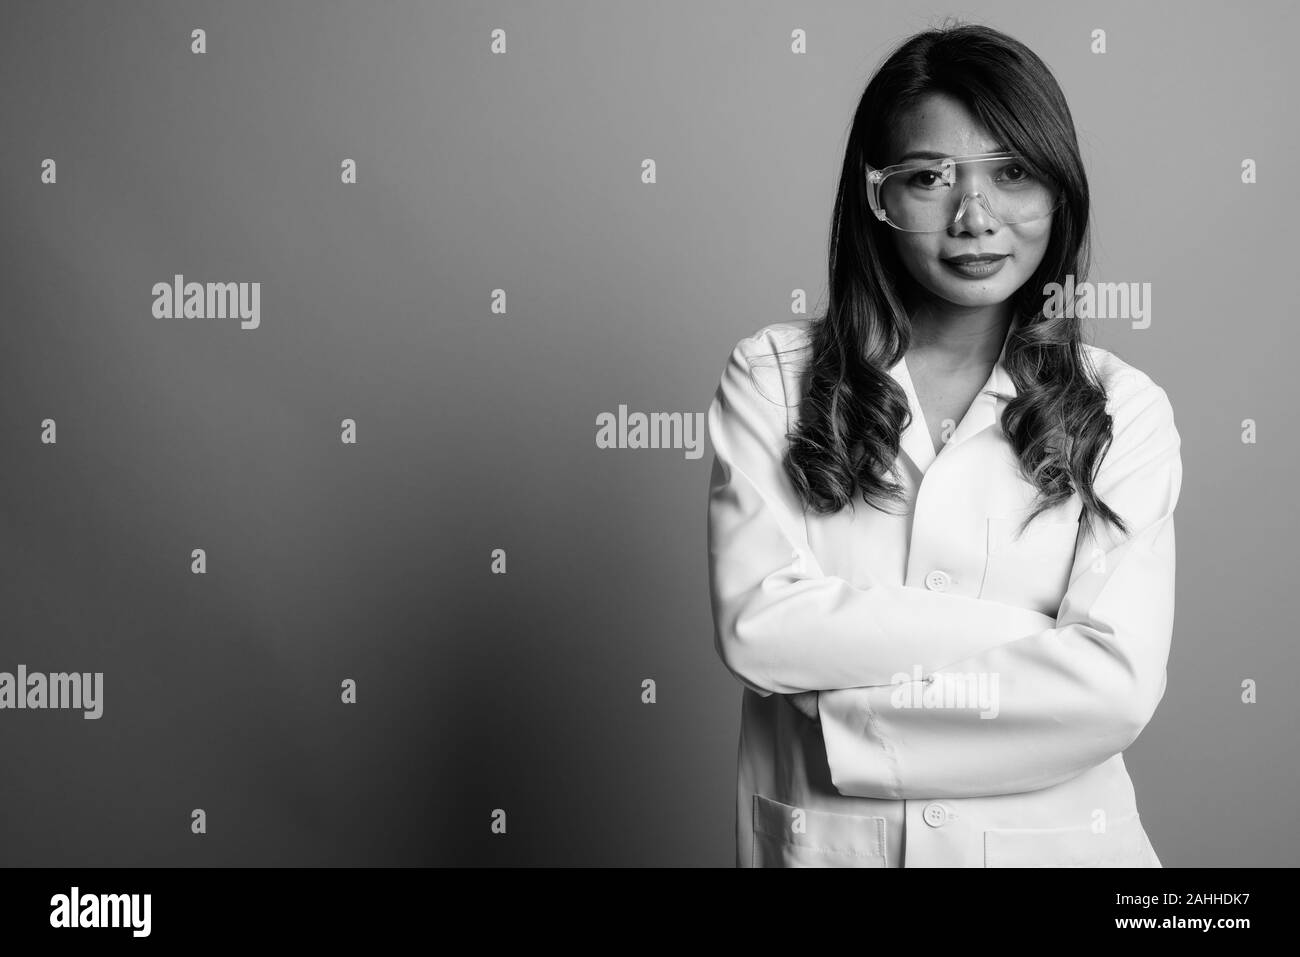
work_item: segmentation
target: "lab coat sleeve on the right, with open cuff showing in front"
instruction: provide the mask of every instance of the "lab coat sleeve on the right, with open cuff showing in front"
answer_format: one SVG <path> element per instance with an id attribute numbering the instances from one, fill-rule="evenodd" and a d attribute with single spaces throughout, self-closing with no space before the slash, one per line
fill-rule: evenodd
<path id="1" fill-rule="evenodd" d="M 1118 754 L 1147 726 L 1165 693 L 1183 468 L 1164 389 L 1145 378 L 1130 393 L 1113 413 L 1095 481 L 1130 534 L 1093 521 L 1097 538 L 1079 536 L 1052 627 L 954 659 L 920 681 L 818 696 L 840 793 L 1036 791 Z"/>

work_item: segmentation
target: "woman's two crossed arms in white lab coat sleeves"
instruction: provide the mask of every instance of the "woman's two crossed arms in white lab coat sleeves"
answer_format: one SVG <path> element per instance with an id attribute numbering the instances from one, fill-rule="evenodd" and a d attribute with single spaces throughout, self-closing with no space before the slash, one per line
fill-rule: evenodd
<path id="1" fill-rule="evenodd" d="M 880 798 L 1050 787 L 1119 753 L 1164 696 L 1173 635 L 1179 436 L 1167 395 L 1130 378 L 1097 495 L 1130 525 L 1080 536 L 1057 618 L 923 589 L 827 576 L 780 465 L 785 410 L 732 352 L 708 412 L 715 642 L 759 694 L 815 702 L 836 788 Z M 771 390 L 767 390 L 771 391 Z M 781 394 L 781 393 L 777 393 Z M 998 707 L 900 707 L 892 677 L 997 677 Z M 936 677 L 937 675 L 937 677 Z"/>

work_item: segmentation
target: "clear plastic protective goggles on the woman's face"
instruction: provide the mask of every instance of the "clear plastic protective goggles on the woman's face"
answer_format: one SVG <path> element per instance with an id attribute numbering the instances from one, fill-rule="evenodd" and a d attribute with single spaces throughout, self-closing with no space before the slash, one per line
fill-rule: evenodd
<path id="1" fill-rule="evenodd" d="M 998 222 L 1048 216 L 1063 195 L 1036 176 L 1020 153 L 974 153 L 867 166 L 867 202 L 878 220 L 904 233 L 937 233 L 958 222 L 972 202 Z"/>

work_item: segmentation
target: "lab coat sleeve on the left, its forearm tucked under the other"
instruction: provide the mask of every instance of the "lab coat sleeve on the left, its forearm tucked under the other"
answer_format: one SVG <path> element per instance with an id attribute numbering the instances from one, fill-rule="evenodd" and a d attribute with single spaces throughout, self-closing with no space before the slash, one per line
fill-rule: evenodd
<path id="1" fill-rule="evenodd" d="M 1052 619 L 1001 602 L 827 576 L 781 465 L 786 404 L 775 342 L 732 351 L 707 421 L 714 447 L 708 580 L 715 646 L 762 696 L 888 685 L 1043 628 Z"/>

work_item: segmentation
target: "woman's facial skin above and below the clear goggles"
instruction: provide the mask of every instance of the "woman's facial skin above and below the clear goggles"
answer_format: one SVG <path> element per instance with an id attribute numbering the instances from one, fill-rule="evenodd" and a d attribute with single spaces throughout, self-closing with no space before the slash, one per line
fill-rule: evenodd
<path id="1" fill-rule="evenodd" d="M 948 94 L 930 94 L 906 111 L 893 130 L 889 163 L 898 163 L 900 157 L 915 151 L 968 156 L 996 152 L 998 146 L 961 100 Z M 993 306 L 1010 299 L 1043 261 L 1052 216 L 1005 225 L 971 199 L 962 217 L 948 229 L 904 233 L 890 228 L 889 231 L 904 267 L 924 293 L 953 306 Z M 988 276 L 966 274 L 946 261 L 952 256 L 982 252 L 1002 254 L 1006 259 Z"/>

